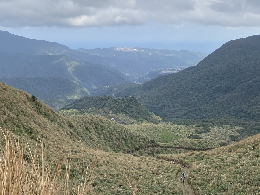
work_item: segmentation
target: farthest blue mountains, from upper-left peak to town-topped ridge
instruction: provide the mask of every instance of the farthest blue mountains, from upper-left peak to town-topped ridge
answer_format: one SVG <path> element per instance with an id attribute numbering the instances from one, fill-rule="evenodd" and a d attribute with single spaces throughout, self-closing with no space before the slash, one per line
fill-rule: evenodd
<path id="1" fill-rule="evenodd" d="M 106 51 L 107 54 L 99 55 L 95 52 L 90 55 L 89 53 L 86 53 L 86 49 L 73 50 L 59 43 L 29 39 L 8 33 L 7 31 L 0 31 L 0 42 L 0 51 L 8 53 L 29 53 L 33 55 L 65 55 L 75 60 L 116 68 L 124 74 L 129 75 L 129 77 L 132 76 L 128 71 L 135 71 L 138 76 L 144 76 L 140 71 L 148 73 L 152 69 L 193 66 L 207 56 L 206 54 L 192 51 L 148 48 L 137 48 L 138 50 L 132 49 L 137 52 L 129 52 L 124 48 L 121 50 L 117 50 L 116 48 L 97 48 L 93 50 L 97 52 L 100 50 Z M 147 50 L 152 53 L 147 53 Z M 116 55 L 114 57 L 111 56 L 111 52 Z M 137 77 L 135 77 L 135 79 L 136 78 Z"/>

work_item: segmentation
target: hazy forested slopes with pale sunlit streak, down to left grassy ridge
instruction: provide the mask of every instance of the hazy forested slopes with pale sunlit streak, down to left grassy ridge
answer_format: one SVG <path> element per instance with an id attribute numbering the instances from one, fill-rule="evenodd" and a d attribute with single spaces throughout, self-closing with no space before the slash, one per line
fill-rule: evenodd
<path id="1" fill-rule="evenodd" d="M 54 109 L 56 99 L 66 101 L 90 95 L 90 91 L 129 80 L 120 71 L 74 60 L 64 55 L 31 55 L 0 51 L 0 81 L 36 95 Z M 51 103 L 52 102 L 52 103 Z"/>

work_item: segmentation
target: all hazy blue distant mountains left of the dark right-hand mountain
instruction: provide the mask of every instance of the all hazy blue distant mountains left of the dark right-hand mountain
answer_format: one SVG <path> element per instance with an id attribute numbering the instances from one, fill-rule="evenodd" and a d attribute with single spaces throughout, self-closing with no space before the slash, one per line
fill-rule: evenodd
<path id="1" fill-rule="evenodd" d="M 91 95 L 96 88 L 134 82 L 153 68 L 192 66 L 206 56 L 191 51 L 142 48 L 132 48 L 135 52 L 96 49 L 108 53 L 90 55 L 59 43 L 32 40 L 6 31 L 0 31 L 0 42 L 0 81 L 35 94 L 56 110 L 73 99 Z M 65 79 L 63 84 L 61 77 Z M 55 106 L 55 101 L 63 103 Z"/>

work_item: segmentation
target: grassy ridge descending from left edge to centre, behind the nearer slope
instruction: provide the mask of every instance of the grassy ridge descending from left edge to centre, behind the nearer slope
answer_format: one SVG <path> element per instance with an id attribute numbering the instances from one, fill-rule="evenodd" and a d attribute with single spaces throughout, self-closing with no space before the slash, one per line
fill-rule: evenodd
<path id="1" fill-rule="evenodd" d="M 151 144 L 148 137 L 138 135 L 137 132 L 129 131 L 126 126 L 103 117 L 59 115 L 40 101 L 34 101 L 31 95 L 2 83 L 0 93 L 0 127 L 12 129 L 17 135 L 27 134 L 32 139 L 42 139 L 42 136 L 48 137 L 46 133 L 50 134 L 53 131 L 51 129 L 57 128 L 56 133 L 67 133 L 70 139 L 76 142 L 80 137 L 86 141 L 86 146 L 95 148 L 99 140 L 100 147 L 107 148 L 108 151 L 122 152 Z M 46 127 L 49 130 L 45 129 Z M 111 139 L 113 136 L 116 136 L 117 144 Z"/>

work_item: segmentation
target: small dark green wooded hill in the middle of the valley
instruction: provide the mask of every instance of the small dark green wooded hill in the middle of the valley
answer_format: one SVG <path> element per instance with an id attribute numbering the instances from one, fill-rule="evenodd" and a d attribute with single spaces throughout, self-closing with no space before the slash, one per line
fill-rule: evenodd
<path id="1" fill-rule="evenodd" d="M 109 96 L 83 97 L 66 105 L 60 113 L 76 109 L 79 112 L 71 114 L 92 114 L 114 118 L 125 124 L 140 122 L 159 123 L 161 118 L 149 112 L 140 102 L 133 97 L 112 98 Z M 64 111 L 65 110 L 65 111 Z M 71 111 L 70 111 L 71 112 Z M 69 113 L 69 111 L 67 111 Z"/>

